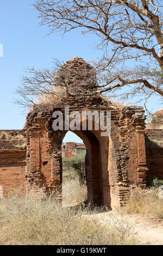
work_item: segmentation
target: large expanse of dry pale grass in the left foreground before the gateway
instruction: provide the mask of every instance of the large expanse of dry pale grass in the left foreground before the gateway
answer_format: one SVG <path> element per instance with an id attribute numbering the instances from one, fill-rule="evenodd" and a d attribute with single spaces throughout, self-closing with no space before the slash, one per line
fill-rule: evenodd
<path id="1" fill-rule="evenodd" d="M 42 193 L 42 192 L 41 192 Z M 52 196 L 12 195 L 0 201 L 0 245 L 121 245 L 136 243 L 110 223 L 100 223 L 90 205 L 62 208 Z M 122 226 L 123 223 L 120 224 Z M 124 233 L 124 232 L 123 232 Z"/>

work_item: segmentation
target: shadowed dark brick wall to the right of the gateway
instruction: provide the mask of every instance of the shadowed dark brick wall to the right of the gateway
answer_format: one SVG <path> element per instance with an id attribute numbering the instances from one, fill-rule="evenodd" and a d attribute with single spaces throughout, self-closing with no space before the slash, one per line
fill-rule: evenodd
<path id="1" fill-rule="evenodd" d="M 163 130 L 145 130 L 147 175 L 163 179 Z"/>

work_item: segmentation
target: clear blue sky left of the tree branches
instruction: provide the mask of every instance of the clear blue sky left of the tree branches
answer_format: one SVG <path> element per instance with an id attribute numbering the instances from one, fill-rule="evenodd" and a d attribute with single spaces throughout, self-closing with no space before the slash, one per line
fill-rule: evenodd
<path id="1" fill-rule="evenodd" d="M 68 60 L 74 56 L 87 61 L 96 60 L 101 51 L 93 48 L 96 35 L 82 35 L 72 31 L 62 38 L 59 34 L 46 36 L 48 29 L 39 27 L 37 12 L 30 5 L 31 0 L 8 0 L 1 2 L 0 44 L 3 57 L 0 57 L 0 130 L 22 129 L 26 121 L 24 110 L 12 103 L 16 98 L 15 89 L 21 84 L 21 76 L 27 66 L 36 69 L 52 66 L 52 57 Z M 156 111 L 162 106 L 159 97 L 153 97 L 148 108 Z M 71 133 L 68 133 L 69 136 Z M 67 137 L 67 136 L 66 136 Z M 69 137 L 72 141 L 76 137 Z M 76 139 L 77 141 L 77 139 Z M 81 139 L 78 140 L 79 142 Z"/>

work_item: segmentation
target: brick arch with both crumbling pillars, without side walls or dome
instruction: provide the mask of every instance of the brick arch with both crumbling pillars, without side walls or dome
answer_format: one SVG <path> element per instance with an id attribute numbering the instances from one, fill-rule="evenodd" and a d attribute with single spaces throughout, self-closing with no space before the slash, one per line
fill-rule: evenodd
<path id="1" fill-rule="evenodd" d="M 81 106 L 79 111 L 85 109 Z M 95 109 L 111 111 L 110 136 L 103 137 L 95 129 L 72 132 L 87 148 L 88 198 L 114 208 L 123 205 L 131 189 L 146 186 L 144 111 L 126 107 L 120 112 L 110 105 L 96 105 Z M 56 110 L 34 109 L 27 116 L 26 185 L 27 192 L 35 185 L 44 186 L 46 191 L 57 189 L 61 200 L 61 143 L 67 131 L 53 130 L 52 114 Z M 64 108 L 60 111 L 64 113 Z"/>

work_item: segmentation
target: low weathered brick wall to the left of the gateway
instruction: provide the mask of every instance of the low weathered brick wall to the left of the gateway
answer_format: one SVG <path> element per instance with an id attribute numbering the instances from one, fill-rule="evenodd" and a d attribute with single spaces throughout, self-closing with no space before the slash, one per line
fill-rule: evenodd
<path id="1" fill-rule="evenodd" d="M 0 186 L 3 196 L 10 190 L 25 193 L 26 138 L 22 130 L 0 131 Z"/>

